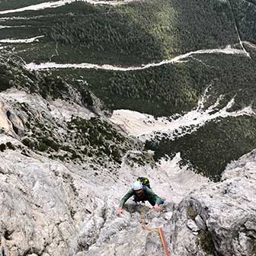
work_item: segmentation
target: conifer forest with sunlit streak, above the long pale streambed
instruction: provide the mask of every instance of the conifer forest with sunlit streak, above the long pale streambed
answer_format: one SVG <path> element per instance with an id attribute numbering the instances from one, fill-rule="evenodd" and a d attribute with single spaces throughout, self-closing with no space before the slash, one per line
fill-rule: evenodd
<path id="1" fill-rule="evenodd" d="M 66 18 L 46 34 L 59 43 L 125 53 L 142 62 L 237 42 L 229 5 L 218 1 L 134 2 Z"/>

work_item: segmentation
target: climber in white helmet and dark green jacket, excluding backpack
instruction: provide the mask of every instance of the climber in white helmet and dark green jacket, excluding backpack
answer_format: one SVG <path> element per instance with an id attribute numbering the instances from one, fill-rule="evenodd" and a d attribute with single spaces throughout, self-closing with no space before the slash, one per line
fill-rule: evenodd
<path id="1" fill-rule="evenodd" d="M 153 206 L 153 209 L 156 211 L 159 210 L 159 205 L 164 203 L 164 200 L 158 197 L 158 195 L 155 194 L 152 189 L 147 186 L 143 186 L 141 182 L 136 181 L 133 183 L 133 187 L 122 198 L 120 206 L 117 210 L 118 215 L 123 213 L 124 203 L 126 203 L 126 200 L 128 200 L 132 196 L 136 203 L 139 201 L 144 202 L 148 200 L 149 203 Z"/>

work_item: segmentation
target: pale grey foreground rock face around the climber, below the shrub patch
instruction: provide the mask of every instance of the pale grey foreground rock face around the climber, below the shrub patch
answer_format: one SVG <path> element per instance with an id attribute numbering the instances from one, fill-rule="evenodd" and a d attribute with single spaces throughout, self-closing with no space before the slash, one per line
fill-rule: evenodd
<path id="1" fill-rule="evenodd" d="M 162 212 L 147 203 L 145 210 L 149 227 L 162 226 L 171 255 L 254 255 L 256 151 L 230 164 L 221 182 L 194 182 L 183 200 L 175 200 L 182 190 L 171 172 L 178 171 L 177 162 L 131 168 L 124 161 L 113 174 L 89 165 L 89 158 L 80 165 L 50 159 L 8 135 L 0 142 L 13 146 L 0 153 L 1 234 L 8 255 L 164 254 L 158 232 L 142 229 L 143 206 L 130 200 L 123 216 L 116 214 L 138 174 L 167 199 Z"/>

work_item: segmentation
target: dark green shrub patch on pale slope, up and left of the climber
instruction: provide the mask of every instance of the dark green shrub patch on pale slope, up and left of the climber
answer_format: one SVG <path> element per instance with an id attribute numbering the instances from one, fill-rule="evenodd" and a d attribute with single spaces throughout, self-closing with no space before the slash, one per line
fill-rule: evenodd
<path id="1" fill-rule="evenodd" d="M 90 120 L 76 117 L 67 126 L 64 124 L 66 133 L 59 136 L 59 125 L 54 121 L 47 123 L 37 119 L 29 110 L 27 115 L 29 133 L 22 143 L 32 150 L 46 152 L 51 158 L 83 162 L 90 157 L 101 165 L 106 164 L 107 158 L 108 162 L 120 164 L 126 150 L 133 148 L 130 139 L 126 139 L 114 126 L 99 117 Z"/>

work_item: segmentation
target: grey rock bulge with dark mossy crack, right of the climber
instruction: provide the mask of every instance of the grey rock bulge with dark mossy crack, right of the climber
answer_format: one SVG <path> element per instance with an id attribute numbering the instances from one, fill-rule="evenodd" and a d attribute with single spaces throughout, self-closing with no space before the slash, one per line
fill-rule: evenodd
<path id="1" fill-rule="evenodd" d="M 222 182 L 181 201 L 171 224 L 175 255 L 255 254 L 255 163 L 254 150 L 230 164 Z"/>

